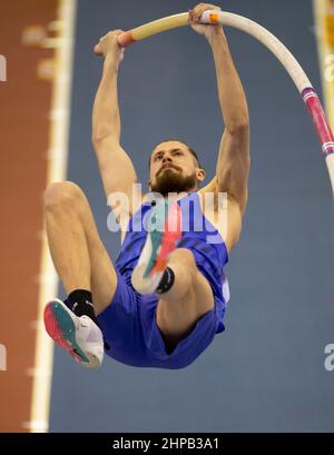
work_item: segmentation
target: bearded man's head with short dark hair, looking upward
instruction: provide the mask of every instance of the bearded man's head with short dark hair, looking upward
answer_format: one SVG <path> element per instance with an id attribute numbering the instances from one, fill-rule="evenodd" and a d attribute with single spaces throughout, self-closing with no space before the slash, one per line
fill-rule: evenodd
<path id="1" fill-rule="evenodd" d="M 187 146 L 176 140 L 161 142 L 154 149 L 149 174 L 150 190 L 163 196 L 196 190 L 205 178 L 205 171 L 198 168 Z"/>

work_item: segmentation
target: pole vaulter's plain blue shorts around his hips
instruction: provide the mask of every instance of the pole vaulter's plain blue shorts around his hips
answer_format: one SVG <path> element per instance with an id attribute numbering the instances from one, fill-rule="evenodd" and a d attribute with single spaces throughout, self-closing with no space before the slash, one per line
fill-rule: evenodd
<path id="1" fill-rule="evenodd" d="M 98 316 L 106 354 L 127 365 L 156 368 L 184 368 L 190 365 L 222 332 L 222 306 L 215 298 L 215 308 L 206 313 L 193 332 L 168 354 L 157 326 L 155 295 L 143 296 L 131 285 L 131 273 L 116 267 L 117 288 L 111 304 Z M 220 304 L 220 305 L 219 305 Z"/>

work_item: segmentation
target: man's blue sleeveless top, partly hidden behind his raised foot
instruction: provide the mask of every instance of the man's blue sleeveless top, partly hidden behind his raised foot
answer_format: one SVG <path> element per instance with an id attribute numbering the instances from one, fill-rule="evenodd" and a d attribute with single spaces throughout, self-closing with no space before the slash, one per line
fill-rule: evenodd
<path id="1" fill-rule="evenodd" d="M 197 192 L 188 194 L 177 204 L 181 210 L 183 230 L 181 239 L 177 246 L 191 250 L 198 270 L 212 286 L 218 316 L 216 333 L 223 332 L 223 316 L 229 300 L 228 281 L 224 274 L 224 266 L 228 261 L 226 245 L 217 229 L 204 216 Z M 116 260 L 116 267 L 127 278 L 136 267 L 146 241 L 145 226 L 150 210 L 151 202 L 144 202 L 128 222 L 127 233 Z M 129 279 L 128 283 L 130 283 Z"/>

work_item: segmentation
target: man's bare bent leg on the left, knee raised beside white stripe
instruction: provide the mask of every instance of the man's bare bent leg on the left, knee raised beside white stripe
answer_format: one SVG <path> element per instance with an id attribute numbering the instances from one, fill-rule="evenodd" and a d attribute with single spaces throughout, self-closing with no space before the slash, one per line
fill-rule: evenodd
<path id="1" fill-rule="evenodd" d="M 68 294 L 91 290 L 98 315 L 110 305 L 117 276 L 88 200 L 77 185 L 65 181 L 47 188 L 45 205 L 49 248 L 63 287 Z"/>

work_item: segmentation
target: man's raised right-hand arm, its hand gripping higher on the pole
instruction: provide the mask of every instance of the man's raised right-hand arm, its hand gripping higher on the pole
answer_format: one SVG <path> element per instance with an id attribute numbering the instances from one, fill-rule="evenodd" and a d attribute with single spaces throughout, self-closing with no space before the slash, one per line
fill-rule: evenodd
<path id="1" fill-rule="evenodd" d="M 208 9 L 219 8 L 200 3 L 190 12 L 190 23 L 195 31 L 206 37 L 214 55 L 225 131 L 220 140 L 216 177 L 203 190 L 227 194 L 227 243 L 232 248 L 239 238 L 242 215 L 247 205 L 250 164 L 249 118 L 246 96 L 223 28 L 220 26 L 195 24 L 196 21 L 199 21 L 203 12 Z"/>

